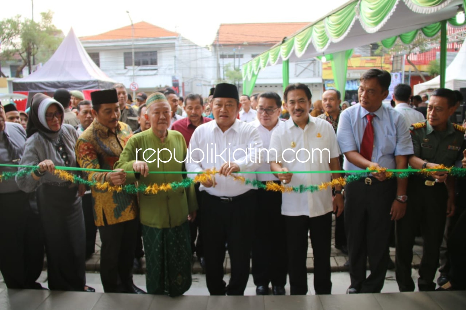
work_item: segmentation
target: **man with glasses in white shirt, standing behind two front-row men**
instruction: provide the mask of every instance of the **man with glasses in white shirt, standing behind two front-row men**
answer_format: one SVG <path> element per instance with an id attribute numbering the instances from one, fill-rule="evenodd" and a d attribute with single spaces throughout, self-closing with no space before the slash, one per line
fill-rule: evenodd
<path id="1" fill-rule="evenodd" d="M 262 93 L 258 98 L 258 119 L 251 122 L 259 131 L 264 149 L 268 149 L 270 137 L 276 128 L 285 124 L 279 120 L 281 113 L 280 95 Z M 270 172 L 267 152 L 262 152 L 262 164 L 256 171 Z M 257 180 L 280 181 L 273 174 L 257 174 Z M 287 283 L 287 255 L 285 242 L 285 218 L 281 215 L 281 193 L 259 189 L 256 208 L 255 236 L 252 251 L 252 267 L 256 295 L 268 295 L 268 284 L 272 283 L 274 295 L 285 295 Z"/>

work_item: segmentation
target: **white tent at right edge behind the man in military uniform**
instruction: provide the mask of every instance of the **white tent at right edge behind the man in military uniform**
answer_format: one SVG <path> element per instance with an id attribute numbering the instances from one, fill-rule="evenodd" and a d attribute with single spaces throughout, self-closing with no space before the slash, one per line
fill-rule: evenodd
<path id="1" fill-rule="evenodd" d="M 458 54 L 453 59 L 450 66 L 446 68 L 445 73 L 445 88 L 459 90 L 459 88 L 466 87 L 466 40 L 459 49 Z M 440 76 L 433 78 L 430 81 L 414 85 L 413 94 L 419 94 L 420 92 L 429 88 L 440 87 Z"/>

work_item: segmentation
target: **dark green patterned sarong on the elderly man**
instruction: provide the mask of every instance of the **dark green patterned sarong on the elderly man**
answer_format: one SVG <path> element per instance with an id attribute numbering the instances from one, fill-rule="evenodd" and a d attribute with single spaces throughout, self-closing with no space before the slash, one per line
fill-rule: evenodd
<path id="1" fill-rule="evenodd" d="M 142 225 L 147 293 L 176 297 L 191 287 L 191 237 L 186 221 L 173 228 Z"/>

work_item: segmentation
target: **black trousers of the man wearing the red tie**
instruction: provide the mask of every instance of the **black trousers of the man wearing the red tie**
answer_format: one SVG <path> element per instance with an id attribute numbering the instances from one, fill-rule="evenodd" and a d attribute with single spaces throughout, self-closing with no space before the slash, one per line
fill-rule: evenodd
<path id="1" fill-rule="evenodd" d="M 345 186 L 345 229 L 348 238 L 351 288 L 360 293 L 380 293 L 388 267 L 391 205 L 396 197 L 395 179 L 370 178 Z M 366 277 L 369 258 L 370 275 Z"/>

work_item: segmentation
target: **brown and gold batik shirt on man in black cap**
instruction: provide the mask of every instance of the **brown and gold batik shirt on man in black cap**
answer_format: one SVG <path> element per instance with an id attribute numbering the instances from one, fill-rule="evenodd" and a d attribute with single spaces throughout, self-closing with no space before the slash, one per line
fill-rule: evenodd
<path id="1" fill-rule="evenodd" d="M 115 162 L 132 135 L 130 127 L 118 122 L 115 133 L 100 124 L 96 119 L 79 137 L 75 153 L 81 168 L 112 170 Z M 87 174 L 89 181 L 106 182 L 108 172 L 93 172 Z M 112 225 L 136 218 L 137 200 L 135 195 L 117 193 L 92 188 L 94 204 L 94 221 L 96 226 L 104 226 L 103 214 L 107 224 Z"/>

